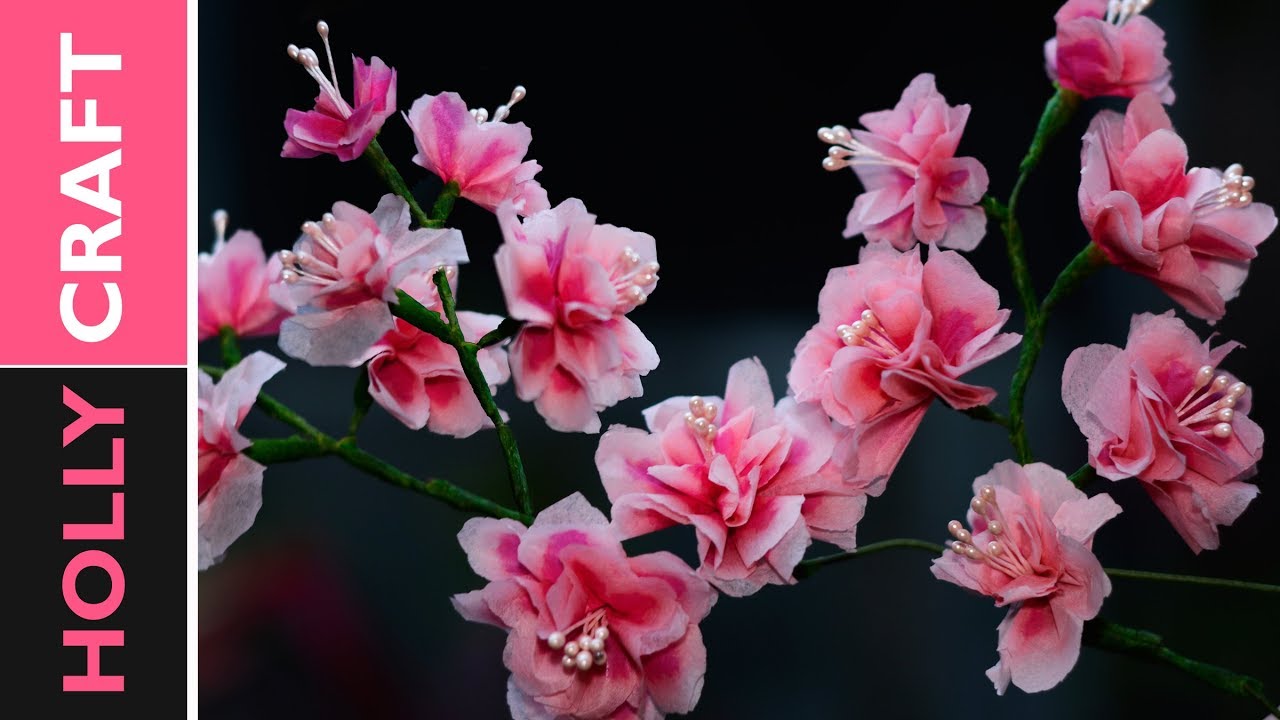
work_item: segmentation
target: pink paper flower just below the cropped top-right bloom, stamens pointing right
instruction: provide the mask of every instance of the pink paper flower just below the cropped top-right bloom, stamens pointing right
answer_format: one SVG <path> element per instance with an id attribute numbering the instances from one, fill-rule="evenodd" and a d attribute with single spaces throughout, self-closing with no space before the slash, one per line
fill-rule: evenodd
<path id="1" fill-rule="evenodd" d="M 1149 92 L 1124 115 L 1093 118 L 1080 163 L 1080 218 L 1107 259 L 1197 318 L 1221 319 L 1276 228 L 1271 206 L 1253 202 L 1244 168 L 1187 172 L 1187 145 Z"/>

